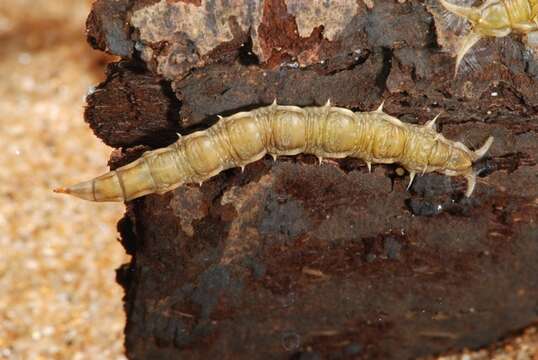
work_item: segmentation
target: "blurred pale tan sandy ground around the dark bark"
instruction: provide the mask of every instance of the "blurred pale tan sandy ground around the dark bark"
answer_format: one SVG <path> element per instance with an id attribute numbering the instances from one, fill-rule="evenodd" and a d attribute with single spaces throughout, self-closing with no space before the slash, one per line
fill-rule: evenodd
<path id="1" fill-rule="evenodd" d="M 51 192 L 107 170 L 82 118 L 110 60 L 85 43 L 89 4 L 0 2 L 0 359 L 124 358 L 123 205 Z M 491 358 L 538 360 L 536 329 L 443 359 Z"/>

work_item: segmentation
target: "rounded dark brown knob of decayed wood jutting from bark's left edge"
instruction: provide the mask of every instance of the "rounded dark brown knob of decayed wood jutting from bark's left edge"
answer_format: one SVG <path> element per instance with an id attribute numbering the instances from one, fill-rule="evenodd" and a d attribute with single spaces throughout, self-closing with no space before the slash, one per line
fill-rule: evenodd
<path id="1" fill-rule="evenodd" d="M 127 62 L 109 65 L 108 77 L 86 97 L 86 122 L 107 145 L 163 146 L 180 129 L 179 101 L 168 82 Z"/>

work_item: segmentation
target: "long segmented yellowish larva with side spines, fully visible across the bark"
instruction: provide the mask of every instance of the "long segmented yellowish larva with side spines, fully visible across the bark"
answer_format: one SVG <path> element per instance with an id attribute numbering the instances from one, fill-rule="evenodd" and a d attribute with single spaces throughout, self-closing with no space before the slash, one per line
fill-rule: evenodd
<path id="1" fill-rule="evenodd" d="M 426 125 L 401 122 L 383 112 L 352 112 L 333 107 L 300 108 L 272 105 L 221 118 L 212 127 L 162 149 L 148 151 L 134 162 L 93 180 L 56 189 L 92 201 L 129 201 L 151 193 L 163 194 L 185 183 L 202 183 L 221 171 L 244 168 L 265 154 L 314 154 L 356 157 L 372 163 L 398 162 L 411 179 L 417 173 L 437 171 L 465 176 L 466 195 L 476 183 L 472 164 L 489 149 L 493 138 L 476 151 L 443 137 L 435 119 Z M 409 188 L 409 187 L 408 187 Z"/>

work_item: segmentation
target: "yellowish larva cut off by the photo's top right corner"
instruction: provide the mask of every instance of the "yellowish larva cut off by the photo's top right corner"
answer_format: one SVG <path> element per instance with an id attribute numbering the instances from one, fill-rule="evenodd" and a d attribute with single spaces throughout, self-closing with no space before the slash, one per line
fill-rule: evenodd
<path id="1" fill-rule="evenodd" d="M 467 19 L 472 26 L 459 44 L 456 74 L 465 54 L 483 37 L 503 37 L 515 32 L 526 35 L 529 45 L 538 44 L 538 0 L 486 0 L 477 7 L 439 1 L 448 11 Z"/>

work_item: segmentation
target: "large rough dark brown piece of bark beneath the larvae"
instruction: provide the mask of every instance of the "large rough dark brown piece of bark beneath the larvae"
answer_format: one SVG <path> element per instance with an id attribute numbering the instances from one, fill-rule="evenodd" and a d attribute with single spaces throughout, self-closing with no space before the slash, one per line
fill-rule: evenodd
<path id="1" fill-rule="evenodd" d="M 521 39 L 481 42 L 480 68 L 454 79 L 450 29 L 419 1 L 251 1 L 231 17 L 204 0 L 111 15 L 115 3 L 96 2 L 90 39 L 135 59 L 110 67 L 86 111 L 123 147 L 113 166 L 275 98 L 385 100 L 406 122 L 442 112 L 443 134 L 467 145 L 495 137 L 470 199 L 461 179 L 429 174 L 406 192 L 394 166 L 298 156 L 130 202 L 119 229 L 133 260 L 118 272 L 130 358 L 414 358 L 538 319 L 538 63 Z"/>

